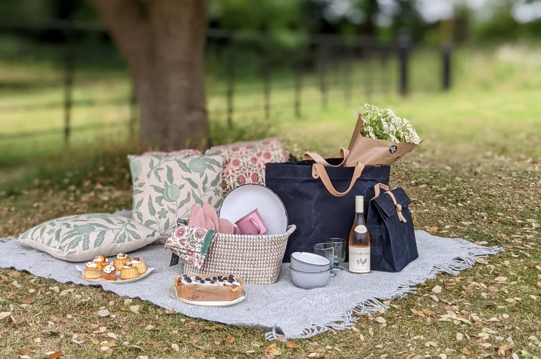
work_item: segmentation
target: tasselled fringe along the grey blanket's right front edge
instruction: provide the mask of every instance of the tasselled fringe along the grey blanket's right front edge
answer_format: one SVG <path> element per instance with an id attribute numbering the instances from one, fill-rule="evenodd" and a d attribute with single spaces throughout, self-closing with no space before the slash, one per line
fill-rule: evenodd
<path id="1" fill-rule="evenodd" d="M 451 261 L 445 263 L 438 263 L 432 267 L 428 275 L 419 276 L 413 280 L 400 285 L 391 297 L 388 298 L 376 298 L 371 297 L 362 302 L 355 304 L 355 307 L 346 310 L 346 312 L 338 317 L 336 320 L 328 322 L 326 324 L 314 324 L 310 327 L 306 327 L 301 334 L 295 335 L 289 338 L 279 333 L 279 328 L 274 327 L 271 331 L 265 334 L 265 338 L 268 341 L 280 340 L 287 341 L 289 339 L 306 339 L 315 335 L 331 331 L 335 333 L 337 330 L 351 329 L 353 324 L 359 320 L 354 315 L 372 315 L 378 313 L 379 310 L 387 310 L 387 307 L 383 301 L 392 299 L 402 299 L 408 293 L 416 293 L 417 288 L 415 286 L 420 283 L 424 283 L 427 280 L 434 279 L 436 275 L 440 273 L 448 273 L 451 275 L 458 275 L 461 270 L 471 268 L 476 263 L 477 258 L 486 258 L 488 255 L 498 254 L 503 252 L 503 248 L 500 247 L 477 247 L 469 250 L 466 256 L 459 256 Z"/>

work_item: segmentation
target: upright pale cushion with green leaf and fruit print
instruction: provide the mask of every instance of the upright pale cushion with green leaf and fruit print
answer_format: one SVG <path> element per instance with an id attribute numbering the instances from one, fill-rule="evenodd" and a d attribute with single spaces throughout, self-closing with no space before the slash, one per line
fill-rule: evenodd
<path id="1" fill-rule="evenodd" d="M 128 159 L 134 185 L 132 218 L 160 235 L 167 236 L 174 219 L 188 217 L 196 204 L 220 208 L 222 153 L 148 152 Z"/>

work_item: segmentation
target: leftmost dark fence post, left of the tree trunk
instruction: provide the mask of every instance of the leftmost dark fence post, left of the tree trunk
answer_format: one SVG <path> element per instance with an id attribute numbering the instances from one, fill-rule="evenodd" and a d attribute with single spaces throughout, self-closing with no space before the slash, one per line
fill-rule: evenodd
<path id="1" fill-rule="evenodd" d="M 73 46 L 75 27 L 70 21 L 70 26 L 65 29 L 65 53 L 64 53 L 64 143 L 69 145 L 71 135 L 71 103 L 73 79 L 75 70 L 75 49 Z"/>

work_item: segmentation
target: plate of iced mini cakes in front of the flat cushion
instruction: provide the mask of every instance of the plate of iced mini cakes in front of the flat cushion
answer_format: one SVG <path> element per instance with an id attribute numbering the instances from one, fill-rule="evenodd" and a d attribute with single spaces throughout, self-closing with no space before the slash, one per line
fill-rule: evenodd
<path id="1" fill-rule="evenodd" d="M 155 268 L 148 267 L 139 256 L 130 258 L 125 253 L 118 253 L 113 262 L 104 255 L 97 255 L 84 267 L 75 266 L 79 276 L 85 281 L 96 283 L 128 283 L 143 279 Z"/>

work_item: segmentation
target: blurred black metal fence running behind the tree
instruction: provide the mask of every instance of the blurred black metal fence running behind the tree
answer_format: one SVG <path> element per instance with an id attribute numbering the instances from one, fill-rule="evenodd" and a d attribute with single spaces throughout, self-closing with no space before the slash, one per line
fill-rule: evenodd
<path id="1" fill-rule="evenodd" d="M 73 96 L 77 86 L 74 74 L 84 56 L 80 51 L 84 44 L 78 43 L 80 36 L 77 34 L 105 33 L 104 26 L 97 22 L 55 20 L 39 26 L 0 24 L 0 28 L 56 30 L 64 33 L 61 45 L 63 54 L 53 59 L 62 69 L 62 83 L 34 84 L 36 88 L 42 89 L 62 86 L 62 98 L 39 104 L 0 106 L 0 116 L 13 112 L 30 113 L 41 109 L 62 108 L 63 127 L 4 134 L 0 130 L 0 141 L 63 133 L 64 141 L 68 144 L 72 132 L 96 128 L 96 124 L 77 126 L 72 123 L 74 109 L 96 106 L 95 101 L 74 99 Z M 291 110 L 291 115 L 299 118 L 306 106 L 321 106 L 325 110 L 331 92 L 334 94 L 333 99 L 340 96 L 346 106 L 351 106 L 354 93 L 359 92 L 365 98 L 375 93 L 399 93 L 406 96 L 411 91 L 411 56 L 418 50 L 407 35 L 400 35 L 392 42 L 383 44 L 374 38 L 362 36 L 295 33 L 271 36 L 264 32 L 209 29 L 206 46 L 207 77 L 210 78 L 206 85 L 209 118 L 227 120 L 233 126 L 235 118 L 242 115 L 272 119 L 273 109 L 282 112 Z M 423 50 L 431 51 L 441 64 L 439 71 L 424 74 L 433 79 L 424 88 L 431 91 L 448 89 L 451 84 L 451 48 L 446 46 L 443 49 Z M 2 58 L 0 66 L 1 62 Z M 85 59 L 83 65 L 88 65 L 88 60 Z M 128 76 L 127 73 L 125 76 Z M 9 87 L 3 86 L 1 82 L 0 78 L 0 89 Z M 129 118 L 115 125 L 125 124 L 129 133 L 136 130 L 138 111 L 135 91 L 131 90 L 125 97 L 111 98 L 106 104 L 128 105 Z"/>

